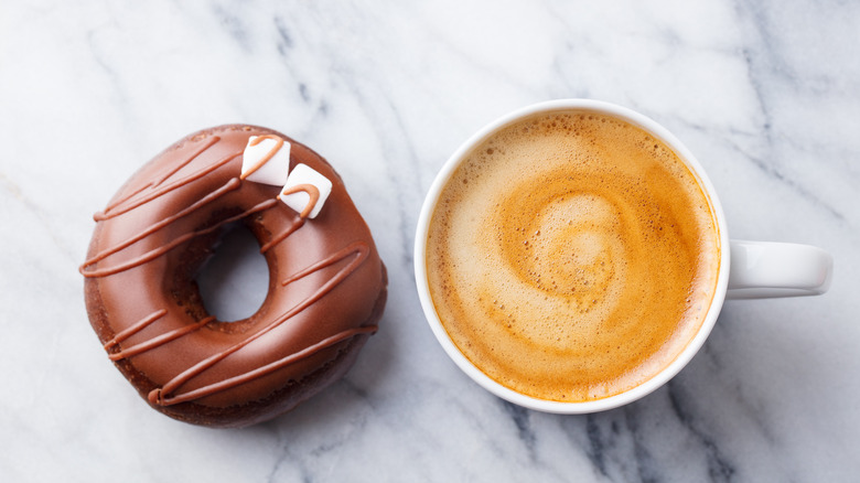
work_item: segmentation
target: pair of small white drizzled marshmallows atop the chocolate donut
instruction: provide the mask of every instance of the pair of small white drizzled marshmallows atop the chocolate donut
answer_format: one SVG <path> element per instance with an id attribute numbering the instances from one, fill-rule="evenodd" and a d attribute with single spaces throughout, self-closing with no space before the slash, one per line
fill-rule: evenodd
<path id="1" fill-rule="evenodd" d="M 307 164 L 297 164 L 290 172 L 290 143 L 272 135 L 248 139 L 240 178 L 283 186 L 278 198 L 302 218 L 315 218 L 332 192 L 332 182 Z"/>

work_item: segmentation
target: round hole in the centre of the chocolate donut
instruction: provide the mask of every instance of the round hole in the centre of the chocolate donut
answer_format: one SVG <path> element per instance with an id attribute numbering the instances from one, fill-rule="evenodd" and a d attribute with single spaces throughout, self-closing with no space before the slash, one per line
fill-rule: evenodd
<path id="1" fill-rule="evenodd" d="M 229 225 L 215 254 L 195 277 L 203 307 L 222 322 L 248 319 L 269 291 L 269 266 L 260 245 L 243 224 Z"/>

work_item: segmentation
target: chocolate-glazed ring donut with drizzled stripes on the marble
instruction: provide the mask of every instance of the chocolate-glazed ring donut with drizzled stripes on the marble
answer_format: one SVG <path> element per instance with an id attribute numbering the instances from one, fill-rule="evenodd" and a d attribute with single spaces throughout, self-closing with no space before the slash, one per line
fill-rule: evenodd
<path id="1" fill-rule="evenodd" d="M 275 148 L 248 168 L 262 140 Z M 278 153 L 284 186 L 252 181 L 277 171 Z M 321 181 L 290 185 L 299 168 Z M 181 421 L 245 427 L 294 408 L 346 373 L 385 309 L 385 265 L 340 175 L 270 129 L 186 136 L 94 219 L 79 267 L 89 322 L 143 399 Z M 269 289 L 256 313 L 225 322 L 206 311 L 194 278 L 241 225 L 260 245 Z"/>

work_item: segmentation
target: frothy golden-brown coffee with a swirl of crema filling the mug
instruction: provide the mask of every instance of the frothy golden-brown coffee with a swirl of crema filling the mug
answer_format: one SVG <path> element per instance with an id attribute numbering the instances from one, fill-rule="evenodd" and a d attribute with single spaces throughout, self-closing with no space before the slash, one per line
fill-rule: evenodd
<path id="1" fill-rule="evenodd" d="M 716 292 L 720 236 L 698 179 L 659 139 L 561 111 L 466 155 L 426 261 L 439 319 L 477 368 L 535 398 L 585 401 L 687 346 Z"/>

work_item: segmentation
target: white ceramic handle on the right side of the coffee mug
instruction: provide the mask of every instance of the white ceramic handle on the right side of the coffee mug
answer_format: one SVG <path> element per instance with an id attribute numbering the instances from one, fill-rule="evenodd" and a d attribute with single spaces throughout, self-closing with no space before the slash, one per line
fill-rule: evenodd
<path id="1" fill-rule="evenodd" d="M 820 296 L 830 288 L 834 258 L 798 244 L 731 240 L 727 299 Z"/>

